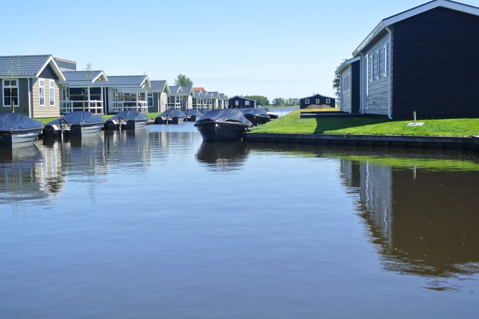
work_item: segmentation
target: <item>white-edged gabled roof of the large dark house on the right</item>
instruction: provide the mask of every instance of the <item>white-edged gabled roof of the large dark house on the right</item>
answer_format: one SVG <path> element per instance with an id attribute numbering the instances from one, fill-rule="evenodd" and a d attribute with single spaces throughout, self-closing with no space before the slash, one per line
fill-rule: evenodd
<path id="1" fill-rule="evenodd" d="M 374 28 L 374 30 L 371 31 L 371 33 L 368 34 L 368 36 L 364 39 L 364 41 L 354 50 L 353 57 L 356 57 L 370 42 L 374 41 L 376 39 L 376 36 L 381 34 L 386 29 L 387 26 L 397 23 L 399 21 L 402 21 L 404 19 L 411 18 L 412 16 L 415 16 L 425 11 L 429 11 L 437 7 L 443 7 L 446 9 L 451 9 L 451 10 L 479 16 L 478 7 L 474 7 L 468 4 L 451 1 L 451 0 L 433 0 L 381 20 L 377 24 L 376 28 Z"/>

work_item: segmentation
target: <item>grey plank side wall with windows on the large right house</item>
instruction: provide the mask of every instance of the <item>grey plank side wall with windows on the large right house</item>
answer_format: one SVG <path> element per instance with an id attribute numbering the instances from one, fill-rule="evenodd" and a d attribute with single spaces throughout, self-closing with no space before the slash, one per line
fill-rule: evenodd
<path id="1" fill-rule="evenodd" d="M 368 83 L 368 102 L 365 113 L 369 114 L 388 114 L 388 101 L 389 101 L 389 78 L 384 76 L 384 46 L 388 45 L 389 34 L 384 34 L 379 40 L 377 40 L 366 51 L 366 55 L 369 60 L 369 67 L 367 70 L 367 83 Z M 390 48 L 388 48 L 389 52 Z M 379 63 L 377 63 L 377 52 L 379 51 Z M 373 62 L 373 80 L 371 80 L 371 56 L 374 57 Z M 386 57 L 387 60 L 387 57 Z M 377 76 L 377 68 L 379 67 L 379 77 Z"/>

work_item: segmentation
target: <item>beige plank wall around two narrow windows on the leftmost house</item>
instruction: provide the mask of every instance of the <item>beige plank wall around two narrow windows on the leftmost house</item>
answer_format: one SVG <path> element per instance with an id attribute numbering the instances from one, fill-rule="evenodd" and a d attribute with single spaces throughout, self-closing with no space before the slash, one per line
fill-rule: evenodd
<path id="1" fill-rule="evenodd" d="M 39 79 L 33 79 L 34 83 L 32 86 L 32 117 L 42 118 L 42 117 L 59 117 L 60 116 L 60 91 L 58 89 L 58 80 L 55 80 L 54 83 L 54 92 L 55 92 L 55 105 L 50 106 L 50 80 L 45 80 L 45 106 L 40 106 L 40 95 L 39 95 Z"/>

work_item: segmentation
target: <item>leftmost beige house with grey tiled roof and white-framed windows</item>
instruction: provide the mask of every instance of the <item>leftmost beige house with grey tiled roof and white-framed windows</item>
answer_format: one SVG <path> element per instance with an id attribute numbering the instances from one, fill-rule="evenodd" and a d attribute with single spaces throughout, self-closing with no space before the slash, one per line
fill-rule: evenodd
<path id="1" fill-rule="evenodd" d="M 65 77 L 51 55 L 0 57 L 0 113 L 60 116 L 58 82 Z"/>

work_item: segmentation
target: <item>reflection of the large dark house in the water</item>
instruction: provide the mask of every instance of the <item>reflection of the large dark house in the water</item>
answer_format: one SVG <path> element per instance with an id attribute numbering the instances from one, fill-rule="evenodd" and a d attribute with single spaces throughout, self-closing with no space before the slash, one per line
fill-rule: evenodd
<path id="1" fill-rule="evenodd" d="M 394 169 L 341 160 L 345 186 L 388 271 L 454 277 L 479 273 L 478 171 Z"/>

